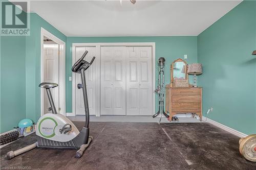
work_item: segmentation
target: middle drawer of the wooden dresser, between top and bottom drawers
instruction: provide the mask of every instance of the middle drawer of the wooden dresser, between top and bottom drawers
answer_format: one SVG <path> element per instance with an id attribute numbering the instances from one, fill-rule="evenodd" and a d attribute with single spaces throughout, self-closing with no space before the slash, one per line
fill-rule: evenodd
<path id="1" fill-rule="evenodd" d="M 172 95 L 172 103 L 201 103 L 200 94 Z"/>

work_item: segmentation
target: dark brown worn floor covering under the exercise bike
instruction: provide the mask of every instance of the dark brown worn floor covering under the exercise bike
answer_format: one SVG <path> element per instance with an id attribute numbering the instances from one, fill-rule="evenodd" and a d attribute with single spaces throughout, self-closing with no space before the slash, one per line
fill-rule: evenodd
<path id="1" fill-rule="evenodd" d="M 82 122 L 75 122 L 81 129 Z M 239 137 L 208 123 L 90 123 L 93 142 L 75 150 L 36 148 L 12 160 L 6 153 L 35 142 L 35 134 L 1 149 L 1 167 L 30 169 L 256 169 L 239 154 Z"/>

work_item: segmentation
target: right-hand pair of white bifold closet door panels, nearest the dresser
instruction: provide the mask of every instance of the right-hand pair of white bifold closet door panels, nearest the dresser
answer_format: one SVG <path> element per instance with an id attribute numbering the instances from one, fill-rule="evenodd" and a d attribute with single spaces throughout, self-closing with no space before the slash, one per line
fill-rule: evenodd
<path id="1" fill-rule="evenodd" d="M 127 47 L 126 62 L 126 114 L 152 115 L 152 47 Z"/>

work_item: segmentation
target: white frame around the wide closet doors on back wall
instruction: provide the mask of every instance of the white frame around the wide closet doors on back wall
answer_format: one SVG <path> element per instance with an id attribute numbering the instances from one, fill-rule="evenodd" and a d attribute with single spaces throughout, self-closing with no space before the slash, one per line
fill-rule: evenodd
<path id="1" fill-rule="evenodd" d="M 100 47 L 101 46 L 151 46 L 152 47 L 152 88 L 156 88 L 156 43 L 155 42 L 110 42 L 110 43 L 72 43 L 72 65 L 75 61 L 75 48 L 79 46 L 95 46 L 96 47 L 96 116 L 100 116 Z M 99 57 L 97 57 L 99 56 Z M 68 113 L 68 116 L 76 115 L 76 93 L 75 89 L 75 73 L 72 72 L 72 113 Z M 156 94 L 152 91 L 152 115 L 155 114 L 156 108 Z"/>

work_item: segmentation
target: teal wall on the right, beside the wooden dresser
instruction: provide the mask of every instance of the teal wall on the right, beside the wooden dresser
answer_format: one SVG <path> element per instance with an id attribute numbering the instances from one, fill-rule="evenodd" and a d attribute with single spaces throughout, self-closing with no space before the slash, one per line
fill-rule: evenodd
<path id="1" fill-rule="evenodd" d="M 256 2 L 244 1 L 198 36 L 203 113 L 245 134 L 256 132 Z"/>

